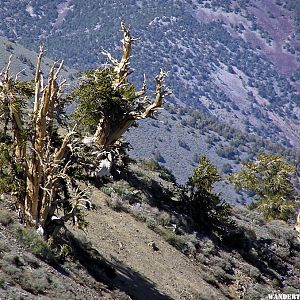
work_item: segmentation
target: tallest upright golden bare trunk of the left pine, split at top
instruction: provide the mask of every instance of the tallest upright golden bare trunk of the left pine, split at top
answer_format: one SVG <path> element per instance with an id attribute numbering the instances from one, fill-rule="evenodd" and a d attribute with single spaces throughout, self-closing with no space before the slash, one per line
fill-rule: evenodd
<path id="1" fill-rule="evenodd" d="M 37 224 L 40 214 L 42 212 L 42 219 L 45 222 L 45 214 L 48 212 L 48 206 L 51 204 L 52 199 L 49 196 L 44 195 L 41 197 L 40 195 L 40 182 L 43 179 L 43 173 L 47 173 L 48 176 L 48 184 L 45 186 L 46 188 L 52 189 L 53 191 L 53 176 L 57 171 L 57 168 L 48 168 L 43 165 L 41 158 L 45 158 L 45 160 L 49 161 L 49 143 L 46 147 L 46 139 L 47 139 L 47 130 L 52 131 L 53 126 L 53 117 L 54 117 L 54 109 L 55 103 L 58 101 L 58 92 L 59 85 L 57 84 L 57 76 L 63 66 L 63 62 L 60 63 L 58 67 L 57 63 L 54 63 L 52 68 L 49 71 L 48 75 L 48 83 L 45 87 L 42 86 L 41 80 L 41 63 L 43 56 L 43 46 L 40 47 L 40 52 L 37 61 L 37 69 L 36 69 L 36 87 L 35 87 L 35 102 L 34 102 L 34 111 L 33 111 L 33 125 L 34 125 L 34 139 L 33 139 L 33 156 L 31 162 L 29 162 L 29 174 L 27 180 L 27 197 L 26 197 L 26 210 L 28 214 L 32 217 L 32 222 Z M 68 136 L 69 138 L 69 136 Z M 63 147 L 60 148 L 57 155 L 58 158 L 61 159 L 64 155 L 65 144 L 63 143 Z M 54 161 L 55 162 L 55 161 Z M 51 173 L 52 171 L 52 173 Z M 39 211 L 40 207 L 40 211 Z M 42 207 L 42 209 L 41 209 Z"/>

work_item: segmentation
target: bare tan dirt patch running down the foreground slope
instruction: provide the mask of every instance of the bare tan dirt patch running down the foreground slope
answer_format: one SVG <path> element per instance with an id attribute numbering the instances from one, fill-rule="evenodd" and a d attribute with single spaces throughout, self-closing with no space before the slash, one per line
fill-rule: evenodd
<path id="1" fill-rule="evenodd" d="M 98 209 L 88 215 L 88 238 L 116 266 L 114 285 L 133 299 L 224 299 L 202 279 L 203 274 L 189 258 L 146 224 L 111 210 L 106 197 L 97 190 L 93 193 Z"/>

